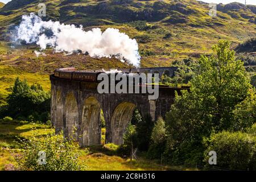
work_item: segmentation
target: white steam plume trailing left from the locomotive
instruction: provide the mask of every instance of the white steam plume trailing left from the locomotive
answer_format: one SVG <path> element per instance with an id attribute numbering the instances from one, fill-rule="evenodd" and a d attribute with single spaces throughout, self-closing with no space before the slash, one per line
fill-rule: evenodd
<path id="1" fill-rule="evenodd" d="M 32 13 L 22 16 L 15 40 L 36 43 L 41 49 L 53 47 L 57 52 L 72 53 L 80 50 L 88 52 L 91 57 L 115 56 L 135 67 L 139 67 L 141 60 L 136 40 L 130 39 L 118 29 L 108 28 L 102 32 L 100 28 L 93 28 L 92 31 L 84 31 L 82 26 L 76 27 L 52 20 L 46 22 Z"/>

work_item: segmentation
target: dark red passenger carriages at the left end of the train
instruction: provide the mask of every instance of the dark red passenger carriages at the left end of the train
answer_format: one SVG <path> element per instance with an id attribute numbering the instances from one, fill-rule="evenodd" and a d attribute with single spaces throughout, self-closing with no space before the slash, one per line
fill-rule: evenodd
<path id="1" fill-rule="evenodd" d="M 69 80 L 97 82 L 97 77 L 101 73 L 104 72 L 76 71 L 76 68 L 60 68 L 55 70 L 54 76 Z"/>

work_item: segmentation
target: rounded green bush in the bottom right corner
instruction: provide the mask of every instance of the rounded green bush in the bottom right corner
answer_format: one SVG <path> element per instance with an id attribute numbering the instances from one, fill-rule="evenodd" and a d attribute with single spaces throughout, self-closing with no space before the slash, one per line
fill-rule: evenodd
<path id="1" fill-rule="evenodd" d="M 205 162 L 208 163 L 209 151 L 216 151 L 217 166 L 229 169 L 256 169 L 256 137 L 241 133 L 222 131 L 204 140 Z"/>

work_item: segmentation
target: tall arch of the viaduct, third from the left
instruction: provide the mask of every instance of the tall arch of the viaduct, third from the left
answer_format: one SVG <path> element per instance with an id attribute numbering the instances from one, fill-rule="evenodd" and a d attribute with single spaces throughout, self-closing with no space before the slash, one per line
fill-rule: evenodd
<path id="1" fill-rule="evenodd" d="M 82 106 L 82 123 L 80 146 L 101 144 L 101 104 L 93 96 L 84 100 Z"/>

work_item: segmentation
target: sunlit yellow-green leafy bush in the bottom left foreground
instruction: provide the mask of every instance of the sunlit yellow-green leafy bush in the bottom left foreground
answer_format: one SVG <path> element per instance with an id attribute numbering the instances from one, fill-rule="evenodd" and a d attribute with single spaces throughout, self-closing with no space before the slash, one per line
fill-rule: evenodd
<path id="1" fill-rule="evenodd" d="M 21 140 L 22 151 L 15 156 L 15 168 L 21 171 L 80 171 L 86 166 L 79 159 L 79 144 L 63 134 Z M 39 152 L 45 152 L 46 164 L 39 165 Z"/>

